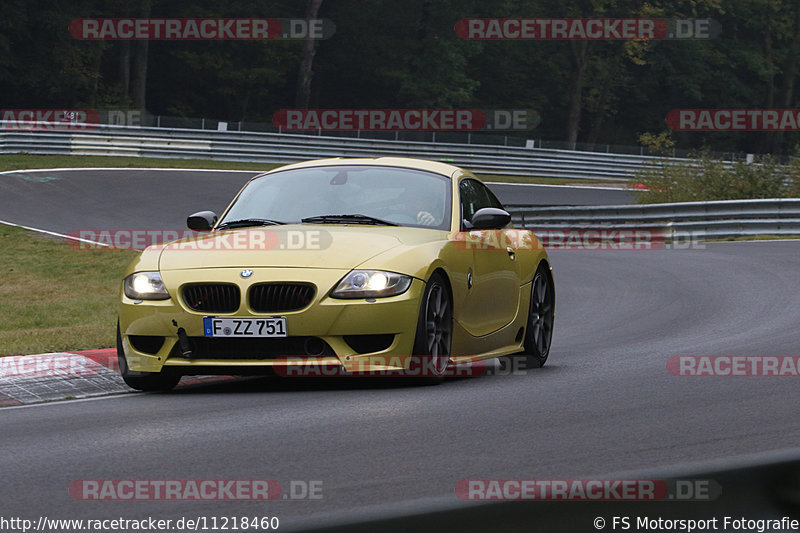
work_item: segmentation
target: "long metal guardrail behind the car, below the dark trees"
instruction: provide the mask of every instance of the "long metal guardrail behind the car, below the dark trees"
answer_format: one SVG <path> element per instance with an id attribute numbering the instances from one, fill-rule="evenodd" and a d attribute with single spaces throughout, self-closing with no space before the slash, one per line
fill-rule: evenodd
<path id="1" fill-rule="evenodd" d="M 17 127 L 16 124 L 11 126 Z M 62 125 L 63 127 L 63 125 Z M 258 132 L 100 125 L 76 131 L 3 129 L 0 154 L 201 158 L 290 163 L 326 157 L 419 157 L 486 174 L 628 181 L 663 158 L 463 143 L 431 143 Z M 673 161 L 690 161 L 672 158 Z"/>

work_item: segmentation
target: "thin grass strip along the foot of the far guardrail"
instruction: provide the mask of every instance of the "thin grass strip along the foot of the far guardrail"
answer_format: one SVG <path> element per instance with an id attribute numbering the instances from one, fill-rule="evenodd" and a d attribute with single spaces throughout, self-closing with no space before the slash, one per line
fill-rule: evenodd
<path id="1" fill-rule="evenodd" d="M 78 155 L 0 155 L 0 172 L 34 168 L 205 168 L 223 170 L 272 170 L 281 165 L 276 163 L 236 163 L 231 161 L 212 161 L 210 159 L 160 159 L 152 157 L 116 156 L 78 156 Z M 541 185 L 576 185 L 603 183 L 602 180 L 574 180 L 565 178 L 539 178 L 535 176 L 498 176 L 478 174 L 484 181 L 502 183 L 534 183 Z"/>

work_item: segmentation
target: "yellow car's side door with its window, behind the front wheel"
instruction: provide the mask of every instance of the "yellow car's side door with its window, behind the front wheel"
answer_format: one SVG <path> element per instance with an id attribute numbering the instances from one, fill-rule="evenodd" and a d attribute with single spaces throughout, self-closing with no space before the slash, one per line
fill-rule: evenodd
<path id="1" fill-rule="evenodd" d="M 506 238 L 505 229 L 474 230 L 465 223 L 484 207 L 502 209 L 500 202 L 483 183 L 472 178 L 462 179 L 459 197 L 462 231 L 468 233 L 468 251 L 472 253 L 472 268 L 467 274 L 468 293 L 461 320 L 472 335 L 482 336 L 497 331 L 516 316 L 520 286 L 516 239 Z"/>

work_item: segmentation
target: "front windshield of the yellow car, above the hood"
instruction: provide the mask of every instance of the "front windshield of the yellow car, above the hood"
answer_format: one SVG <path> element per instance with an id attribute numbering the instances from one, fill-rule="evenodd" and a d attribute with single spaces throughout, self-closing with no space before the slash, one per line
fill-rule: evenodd
<path id="1" fill-rule="evenodd" d="M 409 168 L 334 165 L 256 178 L 220 222 L 375 224 L 450 229 L 451 182 Z"/>

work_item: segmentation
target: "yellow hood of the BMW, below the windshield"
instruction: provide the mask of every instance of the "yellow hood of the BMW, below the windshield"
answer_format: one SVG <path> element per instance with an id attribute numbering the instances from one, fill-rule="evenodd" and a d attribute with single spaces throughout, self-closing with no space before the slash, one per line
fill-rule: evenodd
<path id="1" fill-rule="evenodd" d="M 162 245 L 159 269 L 350 269 L 397 246 L 439 240 L 443 234 L 424 228 L 334 224 L 214 231 Z"/>

